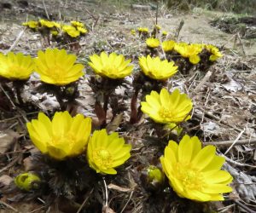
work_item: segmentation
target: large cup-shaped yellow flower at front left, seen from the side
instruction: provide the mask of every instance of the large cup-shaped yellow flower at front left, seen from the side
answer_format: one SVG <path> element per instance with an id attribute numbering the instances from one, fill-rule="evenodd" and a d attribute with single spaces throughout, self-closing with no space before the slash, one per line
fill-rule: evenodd
<path id="1" fill-rule="evenodd" d="M 41 153 L 62 160 L 84 152 L 91 129 L 91 118 L 78 114 L 75 117 L 65 112 L 55 112 L 52 121 L 39 112 L 38 119 L 26 124 L 34 145 Z"/>

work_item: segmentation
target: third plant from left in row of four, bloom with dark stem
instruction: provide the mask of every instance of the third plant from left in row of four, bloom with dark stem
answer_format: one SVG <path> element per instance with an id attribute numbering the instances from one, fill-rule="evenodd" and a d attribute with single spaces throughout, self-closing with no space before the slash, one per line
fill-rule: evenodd
<path id="1" fill-rule="evenodd" d="M 124 55 L 115 53 L 108 55 L 102 52 L 101 55 L 90 56 L 89 65 L 100 76 L 90 78 L 90 87 L 96 94 L 96 114 L 102 126 L 106 124 L 108 103 L 116 101 L 114 89 L 124 83 L 124 78 L 132 72 L 130 63 L 131 60 L 125 60 Z M 118 103 L 112 106 L 112 110 L 113 116 L 119 113 Z"/>

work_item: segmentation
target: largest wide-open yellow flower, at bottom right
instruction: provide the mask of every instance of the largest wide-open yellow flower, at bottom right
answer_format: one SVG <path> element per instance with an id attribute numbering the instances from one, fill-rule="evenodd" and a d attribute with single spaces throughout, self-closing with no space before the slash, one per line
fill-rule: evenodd
<path id="1" fill-rule="evenodd" d="M 198 201 L 224 200 L 222 193 L 230 193 L 230 173 L 220 170 L 224 157 L 215 154 L 209 145 L 201 148 L 201 141 L 184 135 L 179 145 L 169 141 L 165 156 L 160 158 L 170 185 L 178 196 Z"/>

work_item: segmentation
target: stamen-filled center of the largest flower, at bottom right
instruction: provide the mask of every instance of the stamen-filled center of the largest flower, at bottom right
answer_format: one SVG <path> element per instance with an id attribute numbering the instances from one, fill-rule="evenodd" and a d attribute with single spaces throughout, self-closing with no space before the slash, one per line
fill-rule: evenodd
<path id="1" fill-rule="evenodd" d="M 200 191 L 204 186 L 204 179 L 199 170 L 193 168 L 190 164 L 177 163 L 176 165 L 177 179 L 182 182 L 183 187 L 187 190 Z"/>

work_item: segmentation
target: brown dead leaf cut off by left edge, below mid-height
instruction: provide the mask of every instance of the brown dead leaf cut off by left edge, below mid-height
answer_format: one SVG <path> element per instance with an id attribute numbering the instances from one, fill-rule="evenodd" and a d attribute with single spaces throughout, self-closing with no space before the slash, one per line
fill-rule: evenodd
<path id="1" fill-rule="evenodd" d="M 18 137 L 19 134 L 13 130 L 0 131 L 0 153 L 6 153 Z"/>

